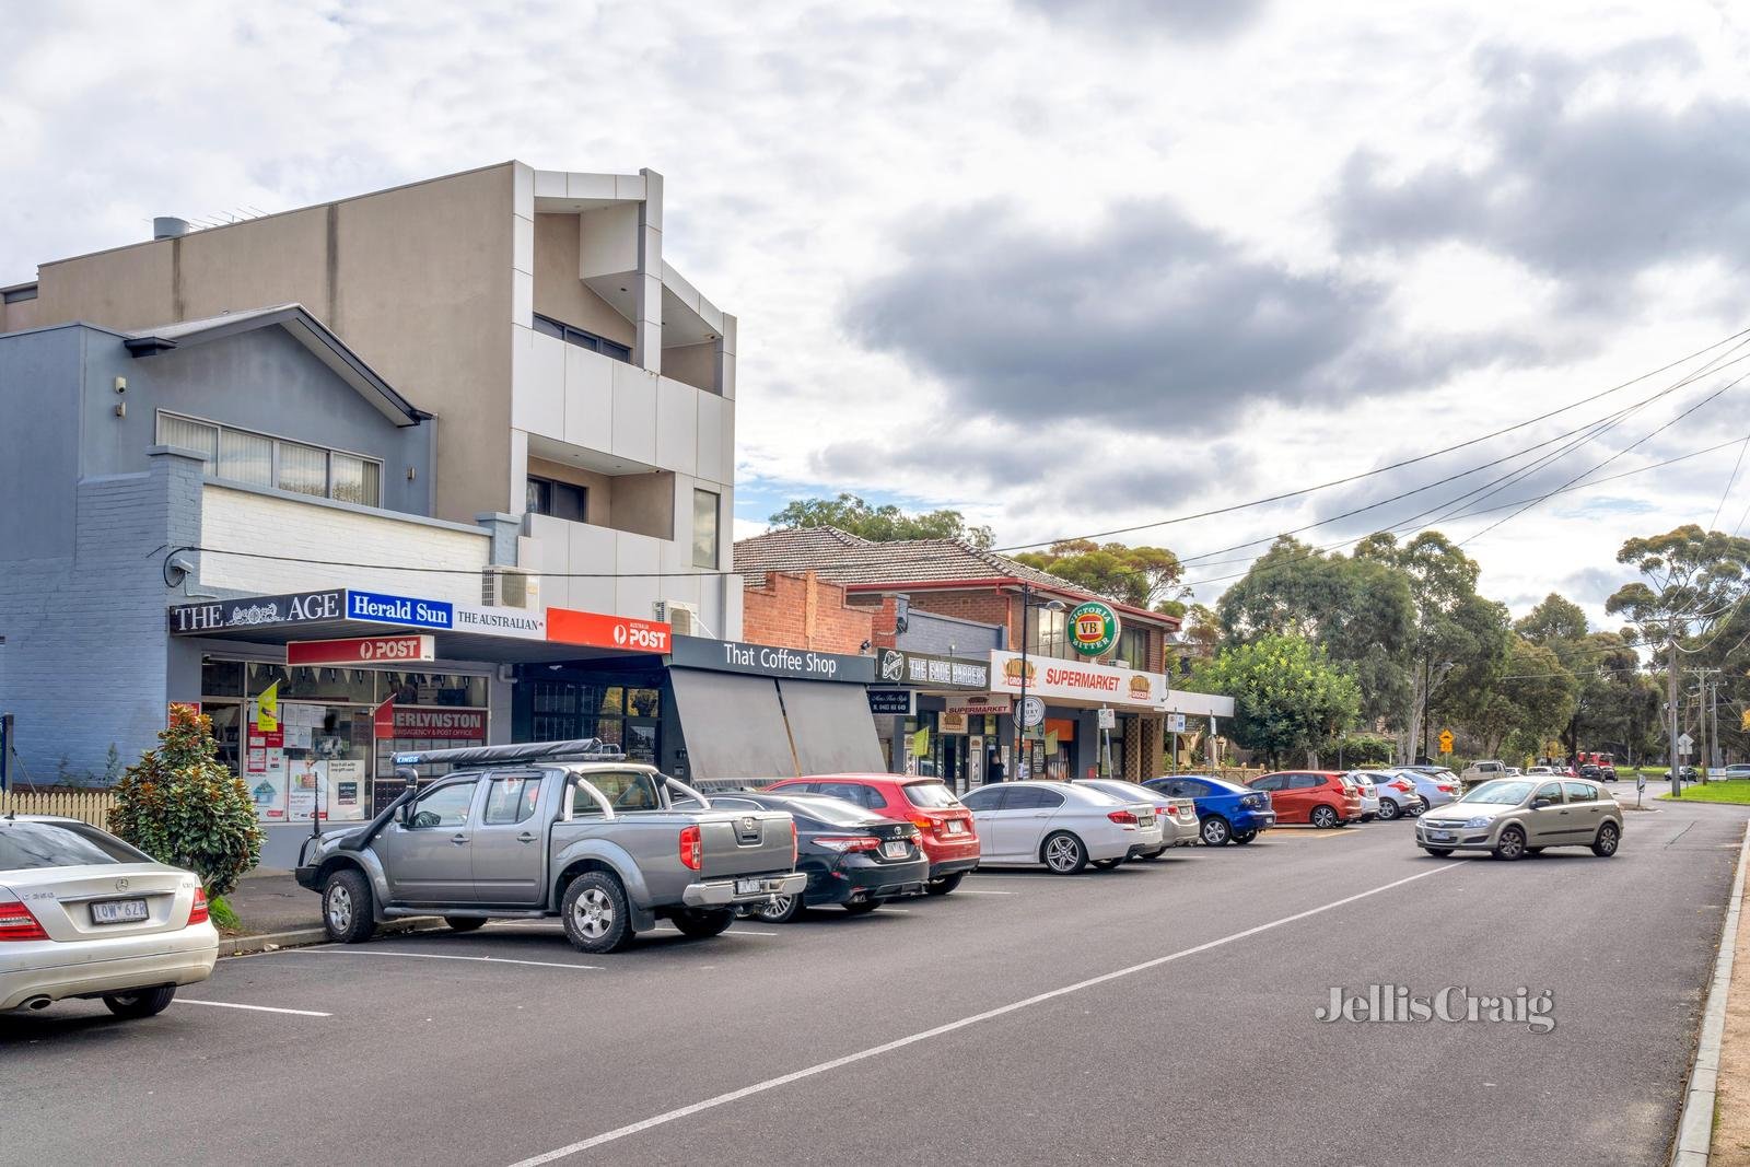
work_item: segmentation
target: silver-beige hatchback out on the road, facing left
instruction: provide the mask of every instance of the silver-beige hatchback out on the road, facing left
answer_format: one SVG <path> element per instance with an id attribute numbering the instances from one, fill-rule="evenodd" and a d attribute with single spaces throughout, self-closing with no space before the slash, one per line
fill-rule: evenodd
<path id="1" fill-rule="evenodd" d="M 1580 779 L 1484 782 L 1416 824 L 1416 845 L 1440 857 L 1491 850 L 1496 859 L 1519 859 L 1545 847 L 1591 847 L 1608 859 L 1620 842 L 1617 800 Z"/>

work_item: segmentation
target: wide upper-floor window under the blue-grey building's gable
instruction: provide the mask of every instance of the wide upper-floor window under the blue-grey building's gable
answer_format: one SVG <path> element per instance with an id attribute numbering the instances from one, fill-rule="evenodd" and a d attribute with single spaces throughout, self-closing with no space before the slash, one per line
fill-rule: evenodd
<path id="1" fill-rule="evenodd" d="M 201 472 L 219 481 L 383 506 L 383 464 L 376 458 L 163 411 L 158 415 L 158 443 L 200 451 L 205 457 Z"/>

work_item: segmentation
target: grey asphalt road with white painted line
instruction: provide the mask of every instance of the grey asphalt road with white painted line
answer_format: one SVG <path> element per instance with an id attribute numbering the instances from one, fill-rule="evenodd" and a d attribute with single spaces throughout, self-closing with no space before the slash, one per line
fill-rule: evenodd
<path id="1" fill-rule="evenodd" d="M 1645 1167 L 1745 819 L 1517 864 L 1279 829 L 614 957 L 494 924 L 233 959 L 147 1022 L 0 1018 L 0 1162 Z M 1316 1020 L 1376 983 L 1549 990 L 1556 1027 Z"/>

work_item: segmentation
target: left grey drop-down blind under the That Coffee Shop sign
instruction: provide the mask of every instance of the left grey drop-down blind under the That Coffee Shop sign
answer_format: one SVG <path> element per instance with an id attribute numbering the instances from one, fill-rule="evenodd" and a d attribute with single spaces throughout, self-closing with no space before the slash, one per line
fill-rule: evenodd
<path id="1" fill-rule="evenodd" d="M 674 703 L 681 714 L 681 735 L 686 738 L 688 772 L 693 779 L 774 780 L 796 775 L 796 756 L 789 747 L 784 707 L 779 705 L 772 677 L 700 668 L 670 668 L 668 677 L 674 682 Z M 861 686 L 847 691 L 863 702 L 863 717 L 868 719 Z"/>

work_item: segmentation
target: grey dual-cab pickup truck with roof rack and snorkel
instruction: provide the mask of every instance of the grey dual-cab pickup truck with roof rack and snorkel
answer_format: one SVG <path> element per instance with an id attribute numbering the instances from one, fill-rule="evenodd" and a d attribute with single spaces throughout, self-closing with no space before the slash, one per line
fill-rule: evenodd
<path id="1" fill-rule="evenodd" d="M 796 896 L 796 824 L 710 800 L 598 740 L 396 754 L 408 791 L 354 831 L 312 836 L 298 882 L 322 892 L 332 940 L 397 917 L 558 917 L 583 952 L 616 952 L 656 920 L 716 936 L 737 908 Z M 453 770 L 415 789 L 413 766 Z M 677 810 L 676 800 L 696 800 Z M 696 807 L 704 807 L 698 810 Z"/>

